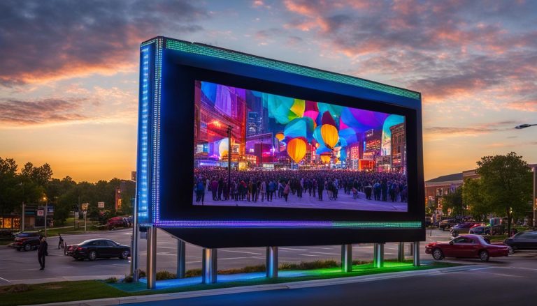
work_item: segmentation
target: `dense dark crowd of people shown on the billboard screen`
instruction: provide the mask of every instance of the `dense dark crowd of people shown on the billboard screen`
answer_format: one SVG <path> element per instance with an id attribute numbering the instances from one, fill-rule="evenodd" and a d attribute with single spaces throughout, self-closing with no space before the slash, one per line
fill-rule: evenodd
<path id="1" fill-rule="evenodd" d="M 408 199 L 404 174 L 350 170 L 248 170 L 231 171 L 228 184 L 226 169 L 194 169 L 196 203 L 203 204 L 206 192 L 213 201 L 273 201 L 276 197 L 289 200 L 315 197 L 322 201 L 326 191 L 329 200 L 337 200 L 338 192 L 359 198 L 359 192 L 368 200 L 401 201 Z"/>

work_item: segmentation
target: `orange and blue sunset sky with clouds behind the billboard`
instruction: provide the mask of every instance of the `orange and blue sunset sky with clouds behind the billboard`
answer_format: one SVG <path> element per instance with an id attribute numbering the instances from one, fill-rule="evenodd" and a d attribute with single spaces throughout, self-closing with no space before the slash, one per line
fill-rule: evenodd
<path id="1" fill-rule="evenodd" d="M 168 36 L 420 91 L 425 178 L 537 163 L 537 1 L 0 1 L 0 157 L 136 167 L 138 56 Z"/>

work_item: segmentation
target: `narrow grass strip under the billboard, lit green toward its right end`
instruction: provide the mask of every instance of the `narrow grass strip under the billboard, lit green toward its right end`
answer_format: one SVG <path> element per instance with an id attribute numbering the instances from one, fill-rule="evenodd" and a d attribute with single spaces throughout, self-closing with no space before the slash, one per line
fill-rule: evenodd
<path id="1" fill-rule="evenodd" d="M 318 264 L 318 263 L 317 263 Z M 300 264 L 298 264 L 300 266 Z M 303 265 L 304 266 L 304 265 Z M 135 282 L 119 282 L 107 284 L 103 281 L 77 281 L 53 282 L 46 284 L 18 284 L 13 286 L 0 286 L 0 306 L 3 305 L 29 305 L 37 303 L 58 303 L 71 300 L 90 300 L 96 298 L 117 298 L 122 296 L 143 296 L 159 293 L 173 293 L 196 290 L 209 290 L 229 288 L 234 286 L 252 286 L 259 284 L 279 284 L 283 282 L 300 282 L 306 280 L 325 280 L 336 277 L 353 277 L 360 275 L 373 275 L 378 273 L 402 272 L 408 270 L 428 270 L 459 266 L 455 263 L 433 262 L 427 266 L 413 267 L 411 261 L 405 263 L 385 262 L 384 268 L 373 268 L 372 263 L 353 266 L 350 273 L 342 273 L 339 266 L 331 268 L 317 268 L 307 270 L 307 275 L 299 277 L 278 277 L 276 279 L 258 278 L 254 280 L 237 280 L 233 282 L 220 282 L 217 284 L 194 284 L 176 288 L 147 290 L 145 284 Z M 253 266 L 260 269 L 261 266 Z M 15 288 L 17 286 L 17 288 Z"/>

